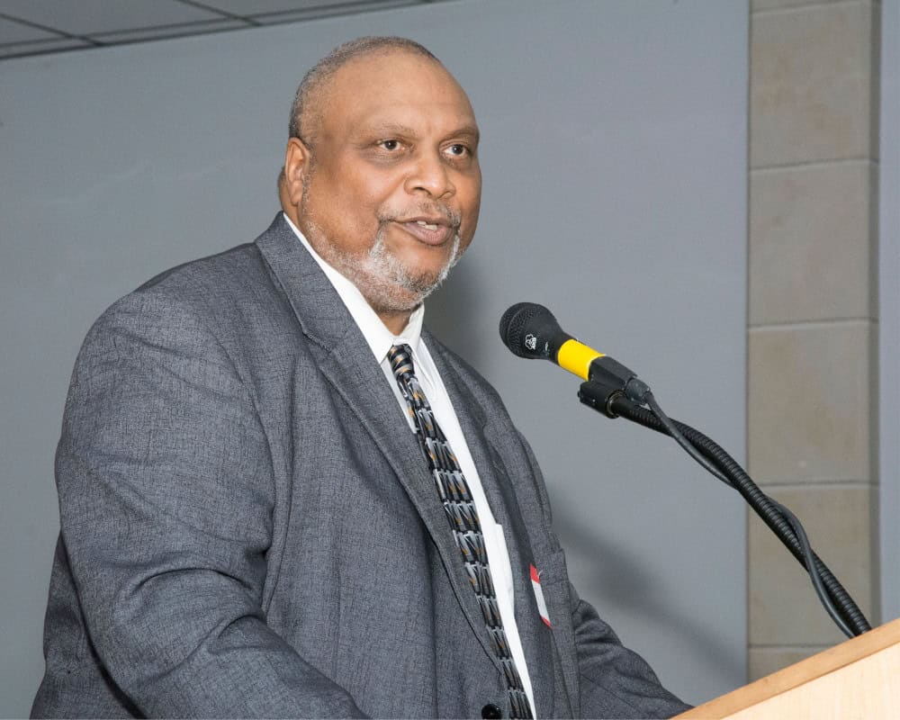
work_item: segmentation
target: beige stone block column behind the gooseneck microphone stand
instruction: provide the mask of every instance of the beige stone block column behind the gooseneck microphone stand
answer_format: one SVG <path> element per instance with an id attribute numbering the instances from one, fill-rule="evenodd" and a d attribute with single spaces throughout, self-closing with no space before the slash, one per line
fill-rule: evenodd
<path id="1" fill-rule="evenodd" d="M 878 0 L 751 0 L 749 471 L 878 622 Z M 749 680 L 842 640 L 748 520 Z"/>

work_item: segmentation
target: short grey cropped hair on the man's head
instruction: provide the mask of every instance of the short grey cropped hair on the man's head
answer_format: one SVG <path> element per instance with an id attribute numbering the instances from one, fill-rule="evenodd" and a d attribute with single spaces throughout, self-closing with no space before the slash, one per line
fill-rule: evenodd
<path id="1" fill-rule="evenodd" d="M 313 147 L 320 129 L 323 107 L 328 103 L 328 91 L 338 70 L 352 60 L 397 51 L 428 58 L 443 67 L 427 48 L 408 38 L 369 36 L 338 45 L 303 76 L 291 105 L 289 137 L 302 139 L 307 147 Z"/>

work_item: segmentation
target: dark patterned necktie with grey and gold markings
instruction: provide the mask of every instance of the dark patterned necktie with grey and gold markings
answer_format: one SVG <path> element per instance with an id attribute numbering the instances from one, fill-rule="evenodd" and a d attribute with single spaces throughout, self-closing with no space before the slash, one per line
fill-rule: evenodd
<path id="1" fill-rule="evenodd" d="M 472 583 L 478 605 L 482 608 L 484 624 L 491 637 L 491 647 L 500 659 L 509 687 L 512 707 L 509 716 L 531 718 L 531 705 L 516 670 L 516 662 L 509 652 L 509 643 L 500 619 L 500 608 L 491 581 L 487 550 L 484 547 L 482 525 L 478 520 L 472 493 L 469 491 L 469 483 L 465 481 L 463 471 L 456 462 L 456 456 L 437 424 L 425 393 L 422 392 L 413 369 L 410 346 L 393 346 L 388 352 L 388 361 L 409 406 L 419 444 L 428 460 L 428 470 L 435 480 L 437 494 L 444 504 L 456 546 L 463 554 L 465 572 L 469 582 Z"/>

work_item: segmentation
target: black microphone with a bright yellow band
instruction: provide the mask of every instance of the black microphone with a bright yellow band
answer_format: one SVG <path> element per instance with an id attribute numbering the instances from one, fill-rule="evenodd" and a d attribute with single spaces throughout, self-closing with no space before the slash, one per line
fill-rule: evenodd
<path id="1" fill-rule="evenodd" d="M 603 383 L 610 392 L 623 392 L 632 401 L 643 403 L 650 392 L 632 370 L 573 338 L 551 311 L 536 302 L 517 302 L 503 313 L 500 339 L 513 355 L 544 358 L 582 380 Z"/>

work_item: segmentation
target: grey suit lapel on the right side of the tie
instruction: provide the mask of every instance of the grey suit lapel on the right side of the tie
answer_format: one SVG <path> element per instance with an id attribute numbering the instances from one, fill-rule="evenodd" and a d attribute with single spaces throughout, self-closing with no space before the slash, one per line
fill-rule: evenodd
<path id="1" fill-rule="evenodd" d="M 500 444 L 491 441 L 498 430 L 482 410 L 482 402 L 475 398 L 469 383 L 464 380 L 465 369 L 455 362 L 453 356 L 427 330 L 424 337 L 453 402 L 485 495 L 491 504 L 491 511 L 503 526 L 509 563 L 512 566 L 516 624 L 535 693 L 536 717 L 553 716 L 553 637 L 549 628 L 539 619 L 535 592 L 531 586 L 533 554 L 528 542 L 527 527 L 518 507 L 517 496 L 528 497 L 527 483 L 516 483 L 506 472 L 505 464 L 496 450 Z"/>

